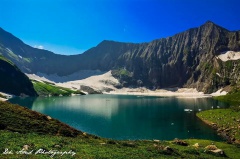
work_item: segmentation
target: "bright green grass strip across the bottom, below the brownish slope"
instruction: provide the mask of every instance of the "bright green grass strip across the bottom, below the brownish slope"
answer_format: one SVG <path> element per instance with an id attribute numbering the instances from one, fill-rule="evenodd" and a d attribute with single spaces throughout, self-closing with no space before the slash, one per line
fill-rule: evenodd
<path id="1" fill-rule="evenodd" d="M 23 145 L 29 145 L 27 152 L 33 151 L 32 155 L 4 155 L 0 154 L 1 158 L 50 158 L 50 155 L 39 154 L 34 155 L 37 150 L 45 149 L 46 151 L 57 150 L 67 151 L 72 150 L 76 155 L 64 155 L 61 158 L 112 158 L 112 159 L 149 159 L 149 158 L 225 158 L 219 157 L 216 154 L 211 154 L 206 151 L 205 147 L 212 143 L 218 148 L 224 150 L 228 158 L 240 157 L 239 148 L 234 145 L 229 145 L 221 142 L 213 142 L 209 140 L 191 139 L 186 140 L 189 146 L 181 146 L 174 144 L 172 141 L 115 141 L 94 138 L 93 136 L 78 136 L 78 137 L 63 137 L 52 135 L 38 135 L 35 133 L 20 134 L 12 133 L 8 131 L 0 131 L 0 138 L 3 139 L 0 142 L 0 152 L 4 152 L 6 148 L 16 153 L 22 150 Z M 192 145 L 198 143 L 199 148 L 195 148 Z M 131 146 L 129 146 L 131 145 Z M 134 146 L 132 146 L 134 145 Z M 169 146 L 172 151 L 166 151 L 164 148 Z M 54 158 L 60 158 L 59 155 L 55 155 Z"/>

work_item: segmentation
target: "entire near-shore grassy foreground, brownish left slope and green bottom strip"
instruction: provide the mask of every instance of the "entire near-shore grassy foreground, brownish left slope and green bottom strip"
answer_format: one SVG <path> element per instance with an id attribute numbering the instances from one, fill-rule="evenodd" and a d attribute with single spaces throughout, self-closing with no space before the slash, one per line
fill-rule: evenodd
<path id="1" fill-rule="evenodd" d="M 38 149 L 74 151 L 75 156 L 61 158 L 218 158 L 205 152 L 213 141 L 191 139 L 189 146 L 177 145 L 171 141 L 116 141 L 81 133 L 47 116 L 27 108 L 0 102 L 0 158 L 49 158 L 50 155 L 4 155 L 5 148 L 14 153 L 23 145 L 29 145 L 30 152 Z M 11 131 L 9 131 L 11 130 Z M 26 131 L 27 130 L 27 131 Z M 59 131 L 61 130 L 61 131 Z M 13 132 L 14 131 L 14 132 Z M 16 133 L 18 132 L 18 133 Z M 62 133 L 59 133 L 62 132 Z M 69 135 L 74 134 L 74 135 Z M 73 137 L 67 137 L 73 136 Z M 200 147 L 191 145 L 199 143 Z M 239 148 L 222 142 L 214 144 L 223 149 L 229 158 L 240 158 Z M 166 146 L 172 150 L 164 150 Z M 58 158 L 56 155 L 54 158 Z M 224 158 L 224 157 L 219 157 Z"/>

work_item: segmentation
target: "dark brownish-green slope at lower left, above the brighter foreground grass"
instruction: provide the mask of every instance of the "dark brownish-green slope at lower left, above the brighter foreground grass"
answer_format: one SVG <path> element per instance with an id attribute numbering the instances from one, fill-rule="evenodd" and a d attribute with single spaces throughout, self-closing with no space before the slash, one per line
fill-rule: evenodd
<path id="1" fill-rule="evenodd" d="M 63 136 L 81 134 L 66 124 L 28 108 L 0 101 L 0 129 L 18 133 L 34 132 Z"/>

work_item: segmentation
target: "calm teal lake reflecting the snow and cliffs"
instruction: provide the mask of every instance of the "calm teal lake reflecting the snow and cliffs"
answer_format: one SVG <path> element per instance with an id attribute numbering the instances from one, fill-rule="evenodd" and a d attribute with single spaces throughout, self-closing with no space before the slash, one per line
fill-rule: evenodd
<path id="1" fill-rule="evenodd" d="M 223 103 L 211 98 L 129 95 L 13 98 L 10 102 L 49 115 L 81 131 L 113 139 L 220 140 L 195 114 L 224 107 Z M 192 111 L 186 111 L 188 109 Z"/>

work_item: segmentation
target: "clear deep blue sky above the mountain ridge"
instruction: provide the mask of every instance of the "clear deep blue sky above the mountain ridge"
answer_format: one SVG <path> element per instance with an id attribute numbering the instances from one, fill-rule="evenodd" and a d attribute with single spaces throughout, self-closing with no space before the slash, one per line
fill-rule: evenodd
<path id="1" fill-rule="evenodd" d="M 211 20 L 240 30 L 239 0 L 0 0 L 0 27 L 25 43 L 78 54 L 103 40 L 150 42 Z"/>

